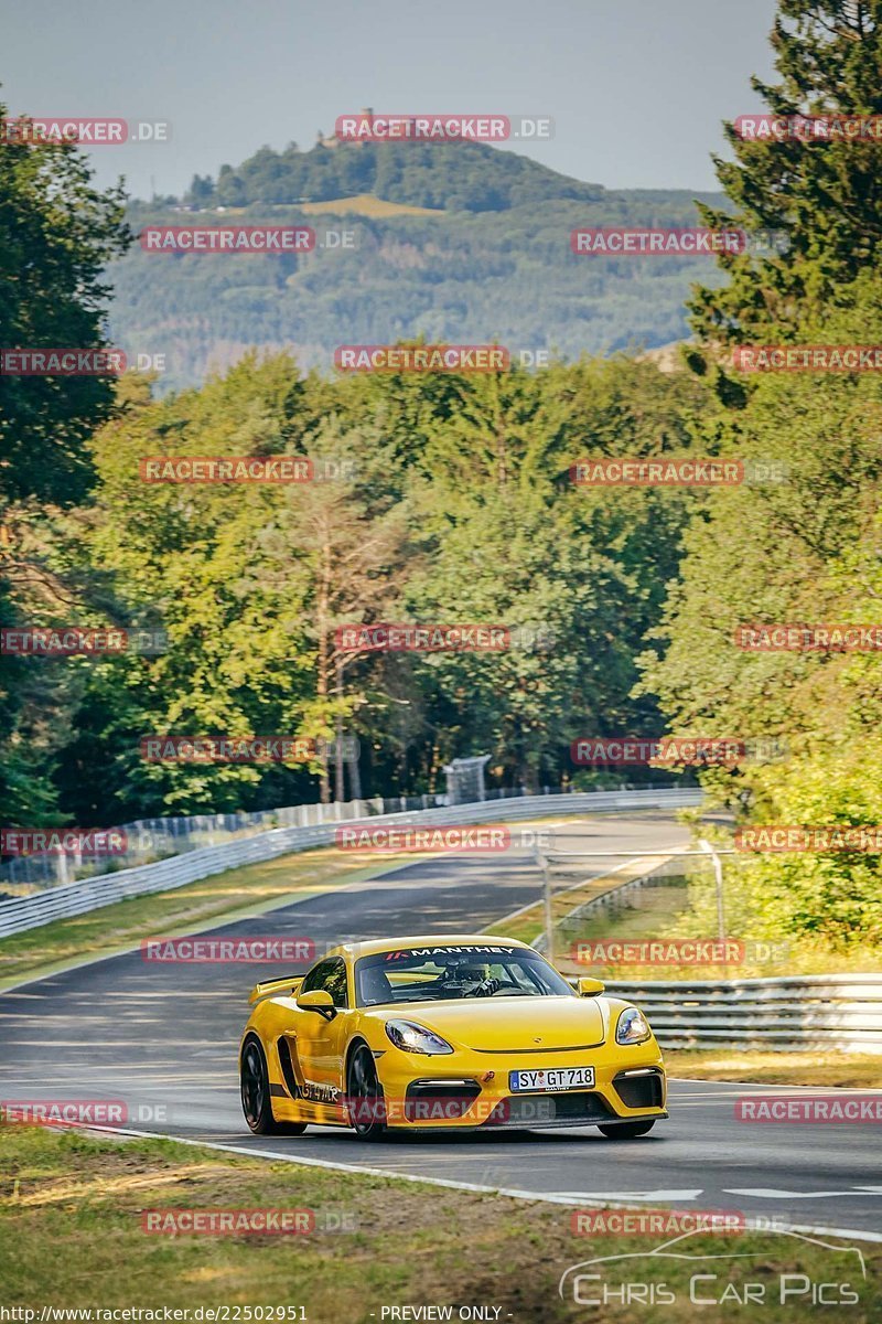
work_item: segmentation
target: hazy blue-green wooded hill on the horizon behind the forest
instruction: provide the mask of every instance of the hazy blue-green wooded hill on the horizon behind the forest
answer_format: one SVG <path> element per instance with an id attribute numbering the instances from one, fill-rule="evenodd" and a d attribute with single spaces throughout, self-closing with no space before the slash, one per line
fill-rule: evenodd
<path id="1" fill-rule="evenodd" d="M 652 350 L 688 335 L 684 299 L 690 283 L 714 281 L 713 260 L 577 257 L 570 233 L 694 225 L 693 197 L 722 204 L 614 192 L 473 143 L 261 148 L 217 180 L 197 176 L 182 200 L 132 203 L 132 226 L 304 224 L 320 241 L 350 232 L 356 246 L 274 257 L 135 246 L 110 273 L 111 335 L 130 355 L 165 355 L 160 389 L 196 384 L 251 346 L 324 369 L 339 344 L 421 334 L 566 357 Z"/>

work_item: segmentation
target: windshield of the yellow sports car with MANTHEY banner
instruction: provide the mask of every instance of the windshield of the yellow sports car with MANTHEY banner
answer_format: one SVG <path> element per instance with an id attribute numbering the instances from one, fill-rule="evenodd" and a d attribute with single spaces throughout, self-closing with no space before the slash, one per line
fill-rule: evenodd
<path id="1" fill-rule="evenodd" d="M 561 996 L 575 994 L 538 952 L 524 947 L 405 947 L 356 963 L 358 1006 Z"/>

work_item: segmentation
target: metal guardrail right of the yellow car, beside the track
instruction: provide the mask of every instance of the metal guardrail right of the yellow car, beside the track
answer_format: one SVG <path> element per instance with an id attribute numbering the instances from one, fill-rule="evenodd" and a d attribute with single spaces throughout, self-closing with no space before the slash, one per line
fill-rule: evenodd
<path id="1" fill-rule="evenodd" d="M 645 1012 L 662 1049 L 882 1054 L 882 973 L 623 981 L 607 989 Z"/>

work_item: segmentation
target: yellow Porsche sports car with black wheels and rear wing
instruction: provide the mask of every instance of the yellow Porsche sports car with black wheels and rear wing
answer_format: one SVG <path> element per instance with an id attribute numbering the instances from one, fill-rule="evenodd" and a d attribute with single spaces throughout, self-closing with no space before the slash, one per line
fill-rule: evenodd
<path id="1" fill-rule="evenodd" d="M 643 1136 L 665 1070 L 641 1012 L 508 937 L 346 943 L 251 993 L 239 1053 L 261 1135 L 575 1127 Z"/>

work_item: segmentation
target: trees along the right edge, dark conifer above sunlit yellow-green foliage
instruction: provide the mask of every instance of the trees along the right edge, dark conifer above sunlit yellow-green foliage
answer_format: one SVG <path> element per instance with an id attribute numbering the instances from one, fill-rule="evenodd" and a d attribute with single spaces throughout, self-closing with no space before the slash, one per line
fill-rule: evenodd
<path id="1" fill-rule="evenodd" d="M 754 83 L 774 114 L 879 114 L 879 0 L 780 0 L 779 11 L 780 81 Z M 791 246 L 759 262 L 726 257 L 729 283 L 696 291 L 689 359 L 718 400 L 698 436 L 747 462 L 776 461 L 784 477 L 714 494 L 692 524 L 680 580 L 641 658 L 644 686 L 674 730 L 789 744 L 785 764 L 709 776 L 717 802 L 768 824 L 874 822 L 878 654 L 744 653 L 734 633 L 747 622 L 878 621 L 879 383 L 812 372 L 744 384 L 725 351 L 738 342 L 879 342 L 882 144 L 742 143 L 731 126 L 729 138 L 735 160 L 718 162 L 718 173 L 737 224 L 784 229 Z M 710 224 L 723 216 L 705 208 Z M 762 933 L 838 949 L 878 943 L 878 855 L 760 857 L 742 892 Z"/>

